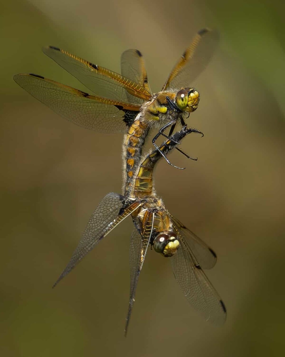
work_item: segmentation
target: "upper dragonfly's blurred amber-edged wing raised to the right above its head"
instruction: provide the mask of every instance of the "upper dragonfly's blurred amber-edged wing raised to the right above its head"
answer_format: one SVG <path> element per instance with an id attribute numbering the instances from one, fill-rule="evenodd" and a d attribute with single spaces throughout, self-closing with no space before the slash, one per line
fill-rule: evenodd
<path id="1" fill-rule="evenodd" d="M 191 45 L 172 69 L 163 90 L 191 87 L 195 78 L 206 68 L 219 41 L 216 30 L 203 29 L 197 32 Z"/>

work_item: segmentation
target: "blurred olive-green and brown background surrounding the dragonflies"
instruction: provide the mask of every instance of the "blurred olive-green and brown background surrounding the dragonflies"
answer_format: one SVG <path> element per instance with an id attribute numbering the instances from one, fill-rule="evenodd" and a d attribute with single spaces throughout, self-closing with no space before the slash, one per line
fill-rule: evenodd
<path id="1" fill-rule="evenodd" d="M 280 356 L 284 353 L 285 5 L 281 1 L 22 1 L 1 5 L 0 355 Z M 178 171 L 161 161 L 168 210 L 217 252 L 207 275 L 228 319 L 215 327 L 183 297 L 170 262 L 149 251 L 128 337 L 131 220 L 57 287 L 87 221 L 121 190 L 121 135 L 61 119 L 18 87 L 32 72 L 83 89 L 41 52 L 62 47 L 119 71 L 138 48 L 160 90 L 195 32 L 221 44 L 193 83 L 201 93 Z M 173 304 L 173 309 L 171 305 Z"/>

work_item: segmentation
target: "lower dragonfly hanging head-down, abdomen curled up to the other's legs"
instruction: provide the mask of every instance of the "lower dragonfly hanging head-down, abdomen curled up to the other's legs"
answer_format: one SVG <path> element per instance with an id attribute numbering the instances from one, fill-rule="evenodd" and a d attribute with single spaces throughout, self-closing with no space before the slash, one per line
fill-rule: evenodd
<path id="1" fill-rule="evenodd" d="M 130 243 L 131 286 L 125 335 L 135 301 L 138 278 L 147 248 L 153 247 L 165 257 L 171 257 L 172 270 L 184 295 L 207 321 L 222 324 L 226 307 L 202 268 L 210 269 L 217 261 L 214 251 L 200 238 L 173 217 L 164 202 L 156 195 L 152 174 L 156 162 L 167 155 L 190 133 L 202 132 L 183 126 L 150 154 L 146 155 L 134 178 L 134 190 L 128 196 L 108 193 L 93 212 L 68 265 L 53 286 L 66 276 L 97 243 L 107 236 L 126 217 L 131 216 L 134 231 Z"/>

